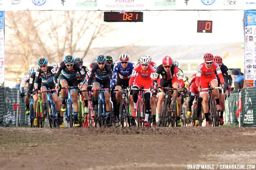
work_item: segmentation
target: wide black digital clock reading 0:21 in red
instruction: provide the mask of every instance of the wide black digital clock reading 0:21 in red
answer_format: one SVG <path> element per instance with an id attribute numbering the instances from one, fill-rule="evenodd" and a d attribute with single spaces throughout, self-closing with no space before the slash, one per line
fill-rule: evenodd
<path id="1" fill-rule="evenodd" d="M 143 12 L 104 12 L 105 22 L 143 22 Z"/>

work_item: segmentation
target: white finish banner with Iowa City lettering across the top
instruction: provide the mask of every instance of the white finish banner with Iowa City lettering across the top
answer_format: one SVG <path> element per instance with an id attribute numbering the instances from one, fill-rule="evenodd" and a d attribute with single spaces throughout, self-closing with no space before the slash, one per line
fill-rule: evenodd
<path id="1" fill-rule="evenodd" d="M 0 0 L 0 11 L 250 10 L 255 0 Z"/>

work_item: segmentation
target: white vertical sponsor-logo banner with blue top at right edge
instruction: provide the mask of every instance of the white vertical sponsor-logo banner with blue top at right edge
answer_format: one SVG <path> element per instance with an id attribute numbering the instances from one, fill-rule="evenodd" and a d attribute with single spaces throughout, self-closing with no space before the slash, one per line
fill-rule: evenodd
<path id="1" fill-rule="evenodd" d="M 244 77 L 245 80 L 256 80 L 256 10 L 246 10 L 244 20 Z"/>

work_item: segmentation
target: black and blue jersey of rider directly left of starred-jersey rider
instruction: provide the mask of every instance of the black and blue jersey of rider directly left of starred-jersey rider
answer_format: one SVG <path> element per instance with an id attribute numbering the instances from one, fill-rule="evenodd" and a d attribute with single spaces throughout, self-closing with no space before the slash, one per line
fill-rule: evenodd
<path id="1" fill-rule="evenodd" d="M 88 85 L 91 85 L 94 75 L 95 75 L 95 78 L 100 80 L 111 79 L 112 78 L 111 66 L 105 63 L 104 68 L 101 70 L 98 64 L 93 65 L 93 68 L 91 69 L 90 77 L 88 79 Z"/>

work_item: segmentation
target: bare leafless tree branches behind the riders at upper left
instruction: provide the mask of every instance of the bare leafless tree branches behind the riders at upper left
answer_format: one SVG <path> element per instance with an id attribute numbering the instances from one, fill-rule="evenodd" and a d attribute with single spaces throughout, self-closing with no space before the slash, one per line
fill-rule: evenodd
<path id="1" fill-rule="evenodd" d="M 65 55 L 86 58 L 96 38 L 113 31 L 100 11 L 8 11 L 5 14 L 6 64 L 20 64 L 27 72 L 30 64 L 46 57 L 63 61 Z"/>

